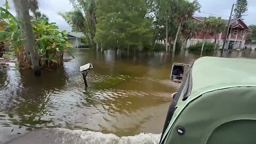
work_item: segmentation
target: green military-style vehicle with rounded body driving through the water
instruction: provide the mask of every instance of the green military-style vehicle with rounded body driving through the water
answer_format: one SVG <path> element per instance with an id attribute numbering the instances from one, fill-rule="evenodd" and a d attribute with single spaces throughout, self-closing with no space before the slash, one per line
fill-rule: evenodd
<path id="1" fill-rule="evenodd" d="M 203 57 L 169 108 L 160 143 L 256 143 L 256 60 Z"/>

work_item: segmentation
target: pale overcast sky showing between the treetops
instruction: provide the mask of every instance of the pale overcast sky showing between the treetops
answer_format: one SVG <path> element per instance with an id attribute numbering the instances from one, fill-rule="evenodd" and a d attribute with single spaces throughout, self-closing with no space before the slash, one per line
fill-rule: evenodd
<path id="1" fill-rule="evenodd" d="M 191 0 L 190 0 L 191 1 Z M 228 19 L 228 16 L 231 11 L 231 6 L 236 0 L 198 0 L 202 5 L 201 13 L 196 13 L 196 16 L 208 17 L 212 14 L 218 17 L 218 15 L 222 15 L 223 19 Z M 247 16 L 244 17 L 244 21 L 247 25 L 256 25 L 256 0 L 247 0 L 248 1 L 248 11 L 246 12 Z M 9 0 L 9 2 L 11 2 Z M 69 3 L 69 0 L 38 0 L 39 9 L 41 12 L 47 15 L 50 18 L 50 22 L 56 22 L 59 26 L 60 30 L 68 30 L 71 31 L 70 26 L 67 22 L 58 15 L 59 12 L 65 13 L 72 9 L 72 5 Z M 13 8 L 12 2 L 10 3 Z M 0 5 L 4 5 L 4 0 L 0 0 Z M 14 13 L 14 10 L 11 11 Z M 208 14 L 211 13 L 211 14 Z"/>

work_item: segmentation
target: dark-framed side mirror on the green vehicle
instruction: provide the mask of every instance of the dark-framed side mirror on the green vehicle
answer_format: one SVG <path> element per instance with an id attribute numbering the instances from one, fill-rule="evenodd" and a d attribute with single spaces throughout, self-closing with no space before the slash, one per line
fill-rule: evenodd
<path id="1" fill-rule="evenodd" d="M 183 78 L 187 75 L 190 65 L 183 63 L 173 63 L 171 81 L 175 83 L 182 83 Z"/>

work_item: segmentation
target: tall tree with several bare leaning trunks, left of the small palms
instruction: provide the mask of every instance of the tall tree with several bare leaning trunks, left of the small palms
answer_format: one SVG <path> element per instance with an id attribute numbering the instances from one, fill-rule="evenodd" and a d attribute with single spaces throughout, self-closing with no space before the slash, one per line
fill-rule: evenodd
<path id="1" fill-rule="evenodd" d="M 158 39 L 165 41 L 166 51 L 171 49 L 171 45 L 176 47 L 182 25 L 193 17 L 193 13 L 199 10 L 200 5 L 197 1 L 188 2 L 185 0 L 160 0 L 159 1 L 159 20 L 158 20 Z M 165 30 L 163 30 L 163 28 Z M 165 36 L 163 36 L 165 34 Z M 163 37 L 165 37 L 163 39 Z M 158 40 L 157 39 L 157 40 Z M 167 45 L 169 44 L 169 48 Z M 175 48 L 173 48 L 175 51 Z"/>

